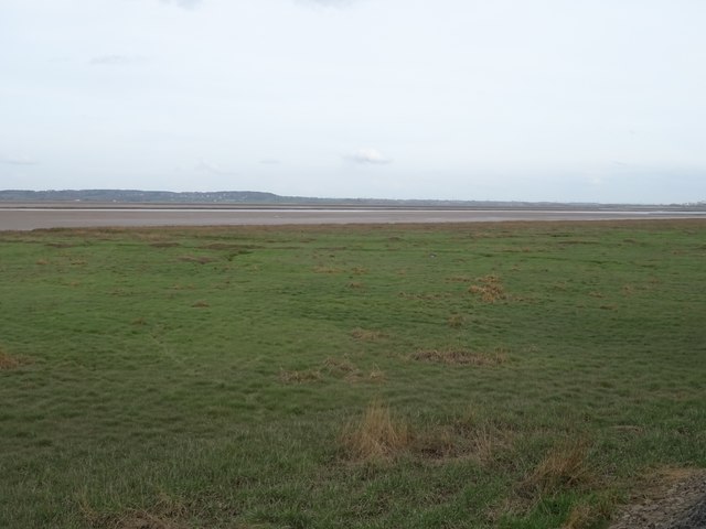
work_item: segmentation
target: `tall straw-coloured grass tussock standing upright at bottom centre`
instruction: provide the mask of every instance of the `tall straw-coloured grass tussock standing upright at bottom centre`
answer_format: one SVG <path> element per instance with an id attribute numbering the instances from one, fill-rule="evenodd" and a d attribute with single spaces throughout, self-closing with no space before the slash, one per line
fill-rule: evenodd
<path id="1" fill-rule="evenodd" d="M 408 425 L 392 417 L 389 408 L 372 401 L 357 422 L 349 423 L 340 438 L 347 457 L 354 461 L 389 460 L 409 447 Z"/>

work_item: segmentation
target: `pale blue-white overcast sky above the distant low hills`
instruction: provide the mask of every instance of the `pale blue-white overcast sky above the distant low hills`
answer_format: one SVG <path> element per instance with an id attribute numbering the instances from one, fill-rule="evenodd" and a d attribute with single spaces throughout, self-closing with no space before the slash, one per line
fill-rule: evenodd
<path id="1" fill-rule="evenodd" d="M 706 201 L 704 0 L 0 0 L 0 188 Z"/>

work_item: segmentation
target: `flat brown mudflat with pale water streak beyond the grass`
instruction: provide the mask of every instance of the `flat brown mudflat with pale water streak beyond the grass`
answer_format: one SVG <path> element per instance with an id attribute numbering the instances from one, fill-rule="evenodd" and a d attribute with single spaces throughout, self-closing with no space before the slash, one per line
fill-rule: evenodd
<path id="1" fill-rule="evenodd" d="M 706 218 L 704 210 L 575 208 L 238 207 L 203 205 L 65 206 L 0 204 L 0 230 L 98 226 L 238 226 L 287 224 L 409 224 L 504 220 Z"/>

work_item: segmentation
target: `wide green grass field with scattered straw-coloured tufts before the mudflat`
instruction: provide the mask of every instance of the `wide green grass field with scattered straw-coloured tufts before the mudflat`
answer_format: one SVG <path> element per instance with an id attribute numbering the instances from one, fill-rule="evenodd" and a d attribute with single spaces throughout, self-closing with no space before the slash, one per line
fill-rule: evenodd
<path id="1" fill-rule="evenodd" d="M 0 527 L 606 527 L 705 293 L 698 220 L 0 233 Z"/>

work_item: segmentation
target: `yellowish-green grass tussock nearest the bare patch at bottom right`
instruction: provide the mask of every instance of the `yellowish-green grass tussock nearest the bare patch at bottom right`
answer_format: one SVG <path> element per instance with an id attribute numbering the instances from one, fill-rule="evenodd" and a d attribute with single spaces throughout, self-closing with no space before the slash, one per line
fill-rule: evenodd
<path id="1" fill-rule="evenodd" d="M 522 484 L 524 492 L 554 493 L 590 482 L 588 443 L 582 439 L 561 441 L 539 462 Z"/>

